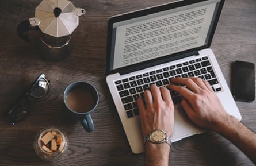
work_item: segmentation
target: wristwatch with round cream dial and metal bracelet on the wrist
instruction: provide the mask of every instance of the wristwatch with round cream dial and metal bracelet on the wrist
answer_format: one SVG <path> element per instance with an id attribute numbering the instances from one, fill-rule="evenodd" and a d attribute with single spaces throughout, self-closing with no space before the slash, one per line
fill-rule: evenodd
<path id="1" fill-rule="evenodd" d="M 145 138 L 145 144 L 153 142 L 155 144 L 167 143 L 171 146 L 171 138 L 166 135 L 166 132 L 161 129 L 152 130 Z"/>

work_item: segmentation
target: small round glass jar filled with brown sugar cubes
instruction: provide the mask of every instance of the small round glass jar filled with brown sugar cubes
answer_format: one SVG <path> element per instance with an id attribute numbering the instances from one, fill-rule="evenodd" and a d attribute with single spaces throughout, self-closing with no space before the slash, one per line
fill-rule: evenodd
<path id="1" fill-rule="evenodd" d="M 45 161 L 60 160 L 68 151 L 67 135 L 56 128 L 41 130 L 34 139 L 34 150 Z"/>

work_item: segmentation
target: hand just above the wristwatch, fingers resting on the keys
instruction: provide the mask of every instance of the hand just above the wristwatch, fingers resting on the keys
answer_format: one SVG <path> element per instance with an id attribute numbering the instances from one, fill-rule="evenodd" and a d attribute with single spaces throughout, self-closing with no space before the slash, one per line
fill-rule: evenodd
<path id="1" fill-rule="evenodd" d="M 171 136 L 174 125 L 174 105 L 170 91 L 165 87 L 159 88 L 152 84 L 151 91 L 146 90 L 144 96 L 146 105 L 142 98 L 137 100 L 144 137 L 154 129 L 165 130 L 167 136 Z"/>

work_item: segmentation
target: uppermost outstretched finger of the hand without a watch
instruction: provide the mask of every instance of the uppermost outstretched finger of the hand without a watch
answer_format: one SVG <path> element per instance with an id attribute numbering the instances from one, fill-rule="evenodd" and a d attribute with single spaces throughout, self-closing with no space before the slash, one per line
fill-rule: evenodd
<path id="1" fill-rule="evenodd" d="M 192 90 L 193 92 L 200 92 L 201 88 L 198 87 L 198 85 L 196 84 L 196 82 L 194 82 L 193 78 L 173 78 L 171 79 L 171 83 L 179 83 L 182 84 L 186 87 L 188 87 L 190 90 Z"/>

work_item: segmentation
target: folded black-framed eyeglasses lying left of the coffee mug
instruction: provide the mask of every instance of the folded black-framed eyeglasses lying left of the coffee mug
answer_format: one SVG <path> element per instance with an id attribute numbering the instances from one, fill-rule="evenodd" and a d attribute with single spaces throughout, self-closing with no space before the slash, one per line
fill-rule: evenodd
<path id="1" fill-rule="evenodd" d="M 41 74 L 29 88 L 29 90 L 18 99 L 18 101 L 12 106 L 12 109 L 9 111 L 8 116 L 10 122 L 14 125 L 16 122 L 24 120 L 29 112 L 29 103 L 28 98 L 32 97 L 35 99 L 43 98 L 48 94 L 50 88 L 49 80 L 45 78 L 44 74 Z"/>

